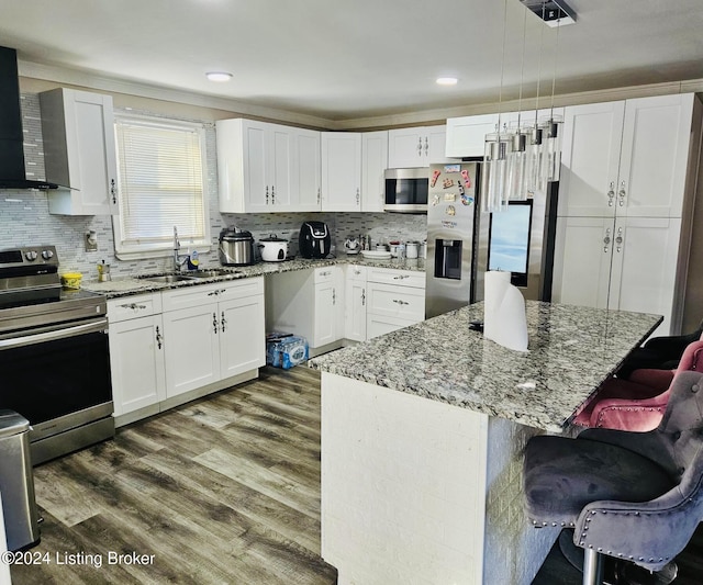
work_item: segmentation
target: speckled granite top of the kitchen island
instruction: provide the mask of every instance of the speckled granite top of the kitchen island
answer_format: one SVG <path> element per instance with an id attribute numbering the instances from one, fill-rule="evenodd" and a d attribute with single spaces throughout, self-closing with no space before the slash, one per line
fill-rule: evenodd
<path id="1" fill-rule="evenodd" d="M 483 303 L 314 358 L 311 367 L 559 432 L 659 315 L 526 302 L 527 352 L 469 329 Z"/>

